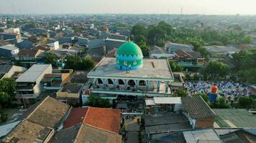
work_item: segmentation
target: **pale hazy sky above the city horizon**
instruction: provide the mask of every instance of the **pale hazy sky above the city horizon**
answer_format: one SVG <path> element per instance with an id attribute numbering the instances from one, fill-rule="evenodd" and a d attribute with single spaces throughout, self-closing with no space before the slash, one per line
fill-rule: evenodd
<path id="1" fill-rule="evenodd" d="M 256 0 L 0 0 L 0 14 L 256 14 Z"/>

